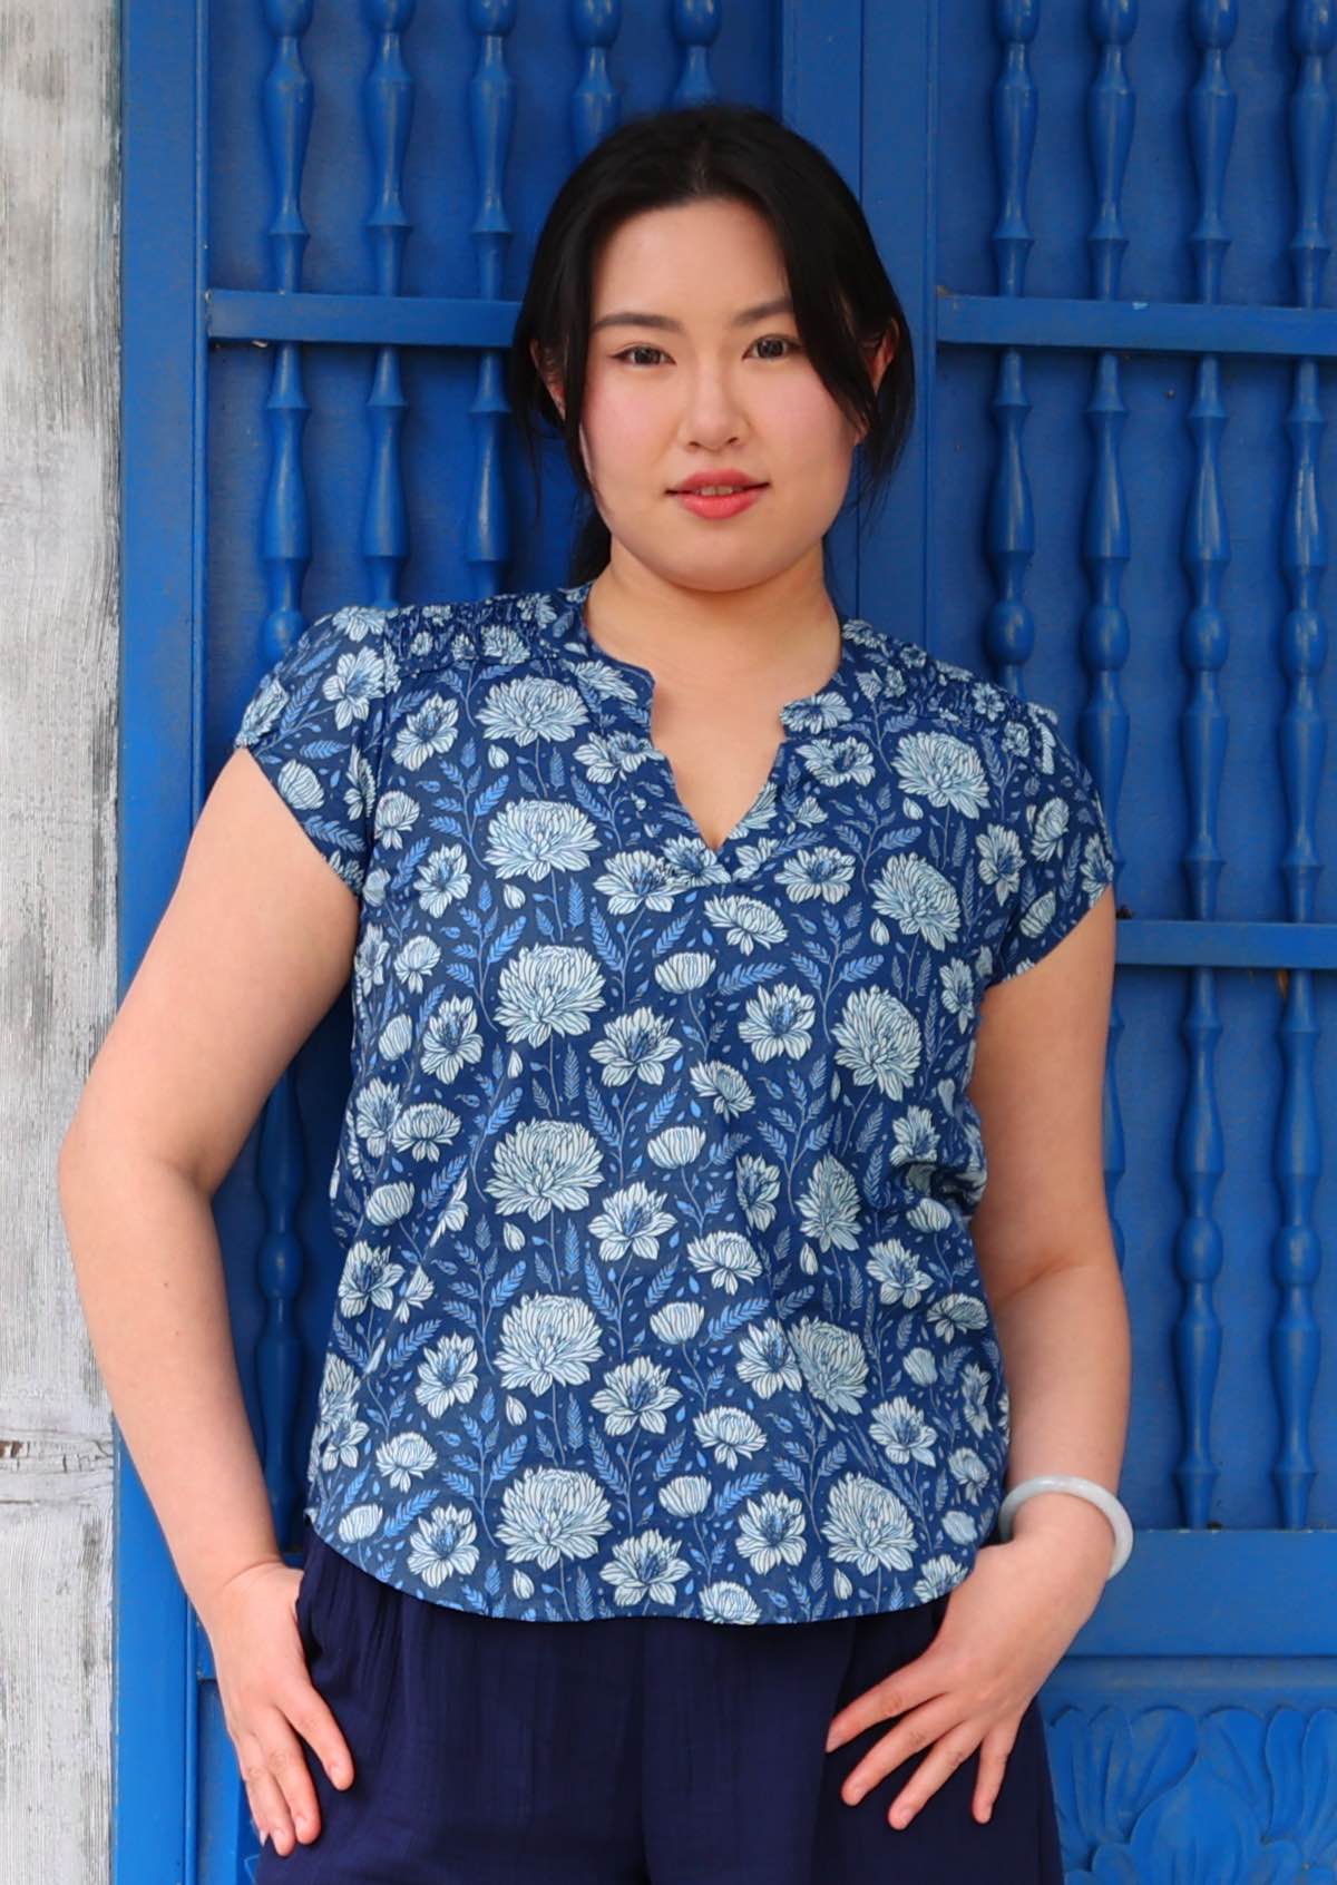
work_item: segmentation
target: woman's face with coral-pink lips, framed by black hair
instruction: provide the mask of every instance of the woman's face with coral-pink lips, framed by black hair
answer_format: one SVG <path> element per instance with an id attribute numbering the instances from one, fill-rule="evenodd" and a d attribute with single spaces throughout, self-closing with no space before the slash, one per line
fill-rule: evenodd
<path id="1" fill-rule="evenodd" d="M 620 549 L 688 588 L 820 567 L 858 432 L 773 305 L 788 283 L 766 219 L 724 200 L 645 211 L 605 241 L 592 290 L 581 451 Z M 734 516 L 671 496 L 724 469 L 766 486 Z"/>

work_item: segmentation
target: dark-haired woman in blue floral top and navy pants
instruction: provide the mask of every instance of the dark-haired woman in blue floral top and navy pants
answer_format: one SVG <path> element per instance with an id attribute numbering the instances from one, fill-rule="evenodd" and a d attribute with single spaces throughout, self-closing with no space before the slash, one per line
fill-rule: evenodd
<path id="1" fill-rule="evenodd" d="M 1035 1696 L 1130 1546 L 1094 782 L 828 594 L 909 336 L 771 117 L 590 153 L 511 392 L 571 581 L 273 665 L 62 1156 L 256 1877 L 1056 1885 Z M 294 1572 L 209 1197 L 349 976 Z"/>

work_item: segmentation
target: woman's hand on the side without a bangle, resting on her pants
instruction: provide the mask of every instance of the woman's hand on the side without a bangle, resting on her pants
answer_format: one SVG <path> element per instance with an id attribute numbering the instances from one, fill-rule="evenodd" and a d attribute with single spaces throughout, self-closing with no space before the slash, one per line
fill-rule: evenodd
<path id="1" fill-rule="evenodd" d="M 260 1844 L 268 1836 L 279 1853 L 290 1853 L 294 1838 L 309 1844 L 321 1832 L 302 1740 L 336 1787 L 353 1781 L 349 1744 L 307 1674 L 296 1610 L 302 1576 L 283 1559 L 249 1565 L 215 1593 L 202 1617 L 251 1819 Z"/>

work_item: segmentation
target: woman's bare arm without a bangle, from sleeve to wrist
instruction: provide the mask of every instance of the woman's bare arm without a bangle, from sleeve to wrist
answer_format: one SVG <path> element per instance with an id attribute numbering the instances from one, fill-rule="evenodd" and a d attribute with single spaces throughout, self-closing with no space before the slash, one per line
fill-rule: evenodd
<path id="1" fill-rule="evenodd" d="M 60 1208 L 111 1406 L 187 1595 L 279 1559 L 211 1197 L 349 976 L 356 895 L 253 756 L 209 794 L 60 1146 Z"/>

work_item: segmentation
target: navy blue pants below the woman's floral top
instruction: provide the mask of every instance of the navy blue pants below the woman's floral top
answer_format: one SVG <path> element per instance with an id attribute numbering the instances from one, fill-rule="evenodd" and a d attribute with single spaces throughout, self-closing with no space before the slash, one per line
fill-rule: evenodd
<path id="1" fill-rule="evenodd" d="M 822 1623 L 487 1617 L 381 1583 L 307 1525 L 298 1623 L 355 1779 L 307 1768 L 321 1832 L 256 1885 L 1062 1885 L 1037 1700 L 986 1825 L 979 1751 L 896 1828 L 924 1755 L 856 1806 L 890 1727 L 824 1749 L 845 1702 L 928 1647 L 947 1597 Z"/>

